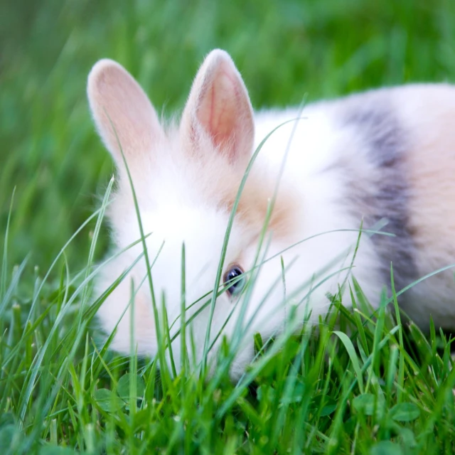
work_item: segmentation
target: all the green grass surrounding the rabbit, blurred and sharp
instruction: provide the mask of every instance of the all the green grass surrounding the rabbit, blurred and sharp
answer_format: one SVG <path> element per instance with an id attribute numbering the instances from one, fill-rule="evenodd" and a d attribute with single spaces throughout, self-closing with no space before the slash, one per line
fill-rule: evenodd
<path id="1" fill-rule="evenodd" d="M 110 353 L 90 329 L 107 230 L 85 223 L 113 171 L 85 98 L 97 59 L 122 63 L 167 117 L 215 47 L 255 107 L 454 81 L 455 2 L 16 0 L 0 11 L 0 454 L 455 453 L 449 340 L 383 310 L 370 319 L 361 298 L 353 313 L 335 301 L 350 336 L 333 317 L 304 328 L 237 384 L 228 355 L 205 380 Z"/>

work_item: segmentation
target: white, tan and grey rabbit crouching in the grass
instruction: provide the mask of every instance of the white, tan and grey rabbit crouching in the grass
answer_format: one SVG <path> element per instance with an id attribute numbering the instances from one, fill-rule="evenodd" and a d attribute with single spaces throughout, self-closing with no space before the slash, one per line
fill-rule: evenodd
<path id="1" fill-rule="evenodd" d="M 193 361 L 203 357 L 209 324 L 210 365 L 223 338 L 241 327 L 232 378 L 255 356 L 254 333 L 282 333 L 290 314 L 296 326 L 316 323 L 338 291 L 351 306 L 352 276 L 378 307 L 384 287 L 390 294 L 391 265 L 397 291 L 447 267 L 407 289 L 400 306 L 424 329 L 430 317 L 435 326 L 454 328 L 451 85 L 387 87 L 303 109 L 253 112 L 230 55 L 215 49 L 198 70 L 180 122 L 160 121 L 139 84 L 112 60 L 94 65 L 87 96 L 117 168 L 107 208 L 117 256 L 96 282 L 100 295 L 127 270 L 97 311 L 106 335 L 115 331 L 114 350 L 129 353 L 131 335 L 138 355 L 158 349 L 143 245 L 130 246 L 141 238 L 134 195 L 159 319 L 164 301 L 176 335 L 177 370 L 183 244 Z M 223 274 L 215 283 L 232 210 Z M 207 302 L 220 289 L 211 315 Z"/>

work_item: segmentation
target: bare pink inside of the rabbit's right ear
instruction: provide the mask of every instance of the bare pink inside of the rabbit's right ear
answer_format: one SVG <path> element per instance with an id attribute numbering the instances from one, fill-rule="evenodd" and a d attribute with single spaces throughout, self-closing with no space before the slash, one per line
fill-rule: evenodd
<path id="1" fill-rule="evenodd" d="M 239 81 L 232 70 L 220 65 L 210 80 L 205 81 L 201 92 L 197 117 L 205 132 L 210 134 L 213 144 L 230 159 L 237 158 L 239 139 L 242 132 L 244 109 Z"/>

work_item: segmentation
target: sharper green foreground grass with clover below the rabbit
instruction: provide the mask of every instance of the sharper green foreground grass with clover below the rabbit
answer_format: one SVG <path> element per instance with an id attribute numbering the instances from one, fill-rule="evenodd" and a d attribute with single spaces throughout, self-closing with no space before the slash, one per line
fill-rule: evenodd
<path id="1" fill-rule="evenodd" d="M 160 372 L 158 360 L 114 355 L 110 338 L 95 343 L 87 329 L 107 294 L 90 306 L 85 277 L 92 269 L 76 282 L 63 260 L 60 270 L 53 283 L 37 275 L 30 296 L 14 279 L 5 283 L 2 454 L 454 449 L 450 343 L 434 329 L 429 341 L 413 325 L 405 330 L 399 314 L 385 310 L 385 299 L 371 317 L 355 281 L 354 311 L 333 296 L 333 311 L 316 327 L 277 335 L 267 347 L 257 336 L 257 360 L 232 383 L 227 344 L 212 376 L 188 367 L 175 377 L 167 363 Z M 166 341 L 159 346 L 165 349 Z"/>

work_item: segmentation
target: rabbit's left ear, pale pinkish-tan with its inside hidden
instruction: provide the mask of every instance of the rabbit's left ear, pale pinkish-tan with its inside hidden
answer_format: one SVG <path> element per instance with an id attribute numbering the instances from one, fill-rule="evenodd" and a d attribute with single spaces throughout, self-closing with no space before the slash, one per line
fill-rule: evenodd
<path id="1" fill-rule="evenodd" d="M 100 137 L 124 168 L 143 165 L 163 130 L 149 98 L 122 65 L 112 60 L 95 63 L 87 81 L 87 97 Z"/>

